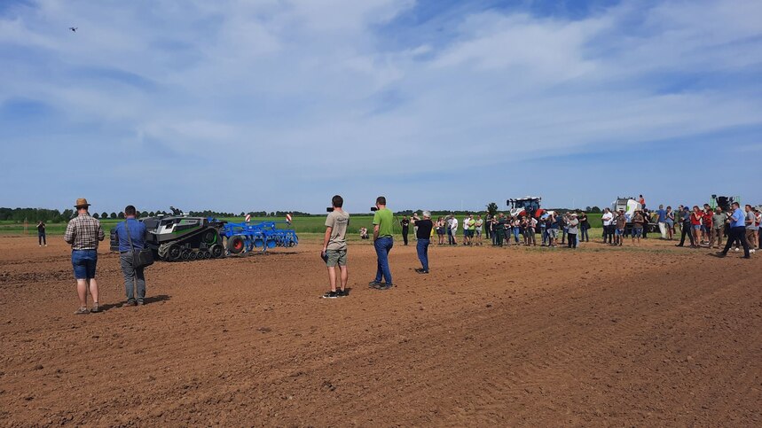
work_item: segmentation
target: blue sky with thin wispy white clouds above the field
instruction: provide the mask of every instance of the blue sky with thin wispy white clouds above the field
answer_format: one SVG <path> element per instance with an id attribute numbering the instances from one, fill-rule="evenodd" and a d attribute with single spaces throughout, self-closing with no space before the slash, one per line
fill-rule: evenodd
<path id="1" fill-rule="evenodd" d="M 760 16 L 735 0 L 5 0 L 0 206 L 759 203 Z"/>

